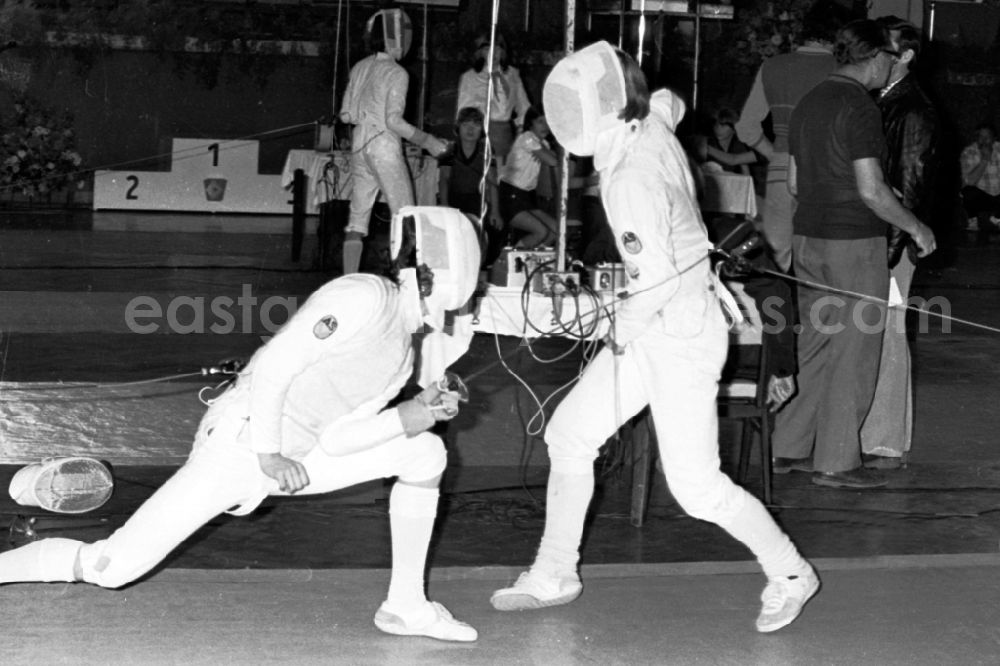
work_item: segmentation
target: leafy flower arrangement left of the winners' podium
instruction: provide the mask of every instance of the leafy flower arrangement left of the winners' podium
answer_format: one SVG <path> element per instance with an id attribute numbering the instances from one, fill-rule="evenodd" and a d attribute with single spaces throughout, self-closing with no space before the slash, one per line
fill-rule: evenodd
<path id="1" fill-rule="evenodd" d="M 18 191 L 35 197 L 83 186 L 70 114 L 53 113 L 20 95 L 13 113 L 2 119 L 0 132 L 0 194 Z"/>

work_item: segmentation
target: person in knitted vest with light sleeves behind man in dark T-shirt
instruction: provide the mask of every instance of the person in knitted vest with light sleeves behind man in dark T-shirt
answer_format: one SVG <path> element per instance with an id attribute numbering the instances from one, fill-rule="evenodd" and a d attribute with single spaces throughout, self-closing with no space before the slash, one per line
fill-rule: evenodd
<path id="1" fill-rule="evenodd" d="M 834 0 L 817 0 L 802 19 L 803 45 L 792 53 L 761 64 L 743 104 L 736 133 L 768 161 L 764 190 L 764 237 L 783 271 L 792 265 L 792 215 L 795 200 L 788 192 L 788 120 L 802 96 L 837 67 L 830 49 L 837 30 L 847 22 L 846 10 Z M 774 142 L 764 134 L 770 115 Z"/>

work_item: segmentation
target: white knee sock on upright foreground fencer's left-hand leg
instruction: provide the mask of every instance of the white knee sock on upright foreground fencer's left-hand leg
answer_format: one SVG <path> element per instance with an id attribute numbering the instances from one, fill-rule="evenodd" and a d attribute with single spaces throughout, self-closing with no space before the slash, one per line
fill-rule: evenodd
<path id="1" fill-rule="evenodd" d="M 552 461 L 546 491 L 545 531 L 532 568 L 552 574 L 576 572 L 583 523 L 593 495 L 592 461 Z"/>

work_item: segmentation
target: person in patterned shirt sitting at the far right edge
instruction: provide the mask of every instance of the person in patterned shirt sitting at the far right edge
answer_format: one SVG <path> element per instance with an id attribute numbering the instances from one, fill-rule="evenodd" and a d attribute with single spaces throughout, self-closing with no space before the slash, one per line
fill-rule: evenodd
<path id="1" fill-rule="evenodd" d="M 990 123 L 980 124 L 976 141 L 962 151 L 962 204 L 975 218 L 977 242 L 985 245 L 1000 217 L 1000 143 Z"/>

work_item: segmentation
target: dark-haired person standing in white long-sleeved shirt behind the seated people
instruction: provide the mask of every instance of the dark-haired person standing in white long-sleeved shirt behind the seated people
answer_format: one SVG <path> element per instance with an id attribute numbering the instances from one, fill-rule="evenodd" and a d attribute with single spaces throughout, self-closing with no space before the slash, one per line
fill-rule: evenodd
<path id="1" fill-rule="evenodd" d="M 490 71 L 493 72 L 493 96 L 490 99 L 490 117 L 487 134 L 490 150 L 501 166 L 507 160 L 514 144 L 514 125 L 524 126 L 525 114 L 531 103 L 524 90 L 521 75 L 508 61 L 507 42 L 497 34 L 493 46 L 493 66 L 487 67 L 490 57 L 489 35 L 476 38 L 475 61 L 458 81 L 458 111 L 473 106 L 486 114 L 489 94 Z"/>

